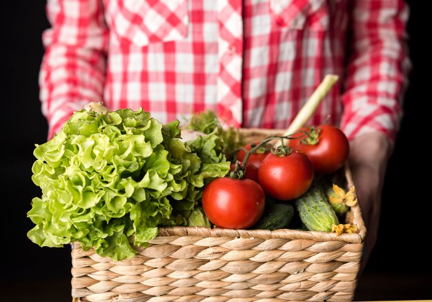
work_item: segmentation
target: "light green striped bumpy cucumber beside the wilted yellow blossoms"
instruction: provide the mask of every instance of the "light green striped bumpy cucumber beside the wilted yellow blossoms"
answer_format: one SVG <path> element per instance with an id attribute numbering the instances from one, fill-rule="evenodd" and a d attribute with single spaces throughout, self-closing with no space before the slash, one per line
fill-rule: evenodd
<path id="1" fill-rule="evenodd" d="M 324 188 L 318 181 L 314 181 L 311 188 L 295 200 L 295 208 L 310 231 L 331 232 L 332 225 L 339 224 Z"/>

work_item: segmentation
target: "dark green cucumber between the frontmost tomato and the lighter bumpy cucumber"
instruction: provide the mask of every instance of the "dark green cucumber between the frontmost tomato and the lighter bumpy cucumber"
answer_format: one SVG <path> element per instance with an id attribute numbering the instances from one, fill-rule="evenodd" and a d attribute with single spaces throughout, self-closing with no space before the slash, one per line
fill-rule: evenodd
<path id="1" fill-rule="evenodd" d="M 266 203 L 264 213 L 255 225 L 254 230 L 279 230 L 288 228 L 294 217 L 294 207 L 289 203 Z"/>

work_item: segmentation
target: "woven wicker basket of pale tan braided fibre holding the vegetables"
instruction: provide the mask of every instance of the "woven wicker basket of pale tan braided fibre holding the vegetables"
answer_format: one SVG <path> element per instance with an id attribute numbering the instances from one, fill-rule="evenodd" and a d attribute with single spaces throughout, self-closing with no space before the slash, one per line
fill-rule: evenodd
<path id="1" fill-rule="evenodd" d="M 353 186 L 348 167 L 344 174 Z M 359 232 L 159 228 L 148 248 L 119 262 L 74 243 L 73 301 L 351 301 L 366 234 L 358 205 L 346 222 Z"/>

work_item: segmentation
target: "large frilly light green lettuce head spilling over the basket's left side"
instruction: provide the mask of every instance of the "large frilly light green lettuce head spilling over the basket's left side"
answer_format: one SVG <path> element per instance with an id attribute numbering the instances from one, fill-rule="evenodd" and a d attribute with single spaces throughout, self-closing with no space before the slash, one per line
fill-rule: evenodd
<path id="1" fill-rule="evenodd" d="M 146 246 L 161 225 L 188 225 L 204 185 L 228 173 L 215 130 L 182 142 L 179 122 L 143 110 L 80 110 L 50 141 L 36 145 L 28 237 L 41 246 L 79 241 L 118 261 Z M 195 215 L 195 214 L 194 214 Z M 190 221 L 195 221 L 190 217 Z"/>

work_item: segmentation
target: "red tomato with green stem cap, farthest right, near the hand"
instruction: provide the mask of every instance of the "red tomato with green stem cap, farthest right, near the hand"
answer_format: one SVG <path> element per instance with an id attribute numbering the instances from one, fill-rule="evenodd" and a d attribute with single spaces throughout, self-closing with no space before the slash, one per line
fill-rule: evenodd
<path id="1" fill-rule="evenodd" d="M 309 132 L 311 139 L 288 140 L 288 145 L 302 150 L 312 161 L 317 174 L 330 174 L 341 168 L 348 159 L 349 144 L 344 132 L 333 125 L 319 125 L 315 130 L 311 127 L 299 131 Z"/>

